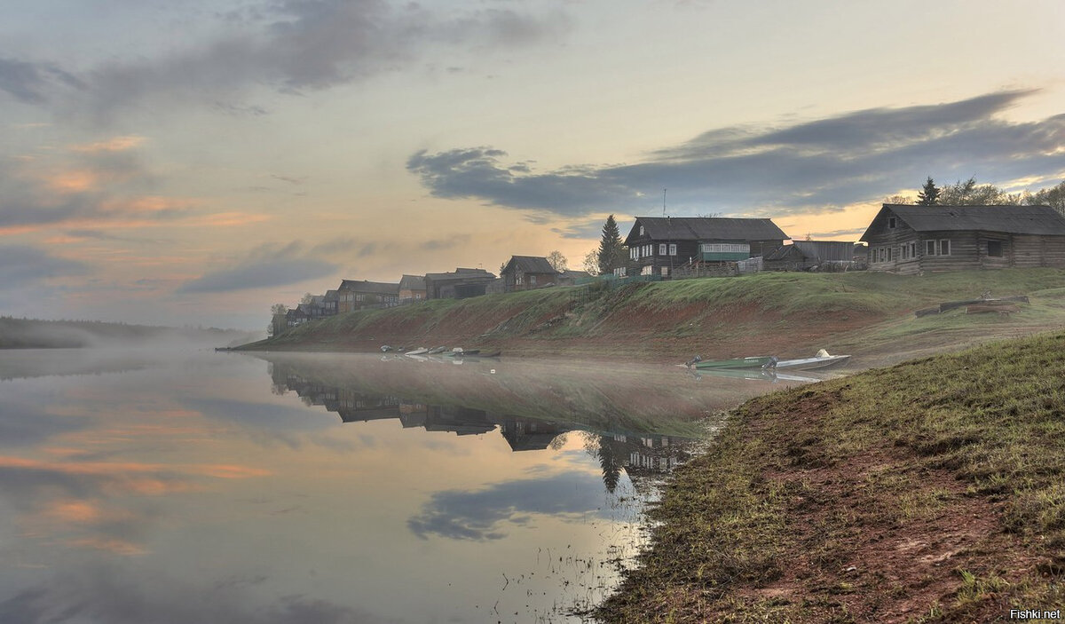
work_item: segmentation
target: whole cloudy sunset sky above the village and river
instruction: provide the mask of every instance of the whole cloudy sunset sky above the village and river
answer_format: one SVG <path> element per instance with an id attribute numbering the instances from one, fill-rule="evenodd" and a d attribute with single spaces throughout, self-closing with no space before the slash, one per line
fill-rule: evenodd
<path id="1" fill-rule="evenodd" d="M 1065 179 L 1065 3 L 5 0 L 0 314 L 259 329 L 613 214 Z"/>

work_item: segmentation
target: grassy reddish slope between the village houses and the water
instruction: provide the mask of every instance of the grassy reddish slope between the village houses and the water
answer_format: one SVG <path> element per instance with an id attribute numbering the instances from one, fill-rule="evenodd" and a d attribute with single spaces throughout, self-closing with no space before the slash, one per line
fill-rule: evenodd
<path id="1" fill-rule="evenodd" d="M 1018 313 L 917 318 L 941 301 L 1028 295 Z M 1065 272 L 928 276 L 763 273 L 609 288 L 550 288 L 341 314 L 249 350 L 375 351 L 382 344 L 462 346 L 507 356 L 684 361 L 753 355 L 855 356 L 858 367 L 1065 325 Z"/>

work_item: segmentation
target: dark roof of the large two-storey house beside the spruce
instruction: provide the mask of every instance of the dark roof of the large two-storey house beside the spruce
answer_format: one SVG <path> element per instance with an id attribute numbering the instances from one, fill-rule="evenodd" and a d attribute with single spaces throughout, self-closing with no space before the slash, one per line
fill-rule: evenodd
<path id="1" fill-rule="evenodd" d="M 772 219 L 694 217 L 694 216 L 638 216 L 625 243 L 644 233 L 655 241 L 775 241 L 788 237 Z"/>

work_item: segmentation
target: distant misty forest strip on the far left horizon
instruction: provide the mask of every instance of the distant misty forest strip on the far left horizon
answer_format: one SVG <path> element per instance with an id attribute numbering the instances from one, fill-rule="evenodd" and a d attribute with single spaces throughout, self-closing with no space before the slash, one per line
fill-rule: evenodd
<path id="1" fill-rule="evenodd" d="M 100 321 L 38 321 L 0 316 L 0 348 L 83 348 L 180 345 L 234 346 L 258 340 L 252 332 L 198 327 L 155 327 Z"/>

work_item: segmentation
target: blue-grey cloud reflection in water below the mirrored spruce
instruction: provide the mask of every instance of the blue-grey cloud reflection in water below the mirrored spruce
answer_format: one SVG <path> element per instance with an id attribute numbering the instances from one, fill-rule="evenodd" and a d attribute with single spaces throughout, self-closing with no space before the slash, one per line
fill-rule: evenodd
<path id="1" fill-rule="evenodd" d="M 482 490 L 446 490 L 433 493 L 407 526 L 422 539 L 437 535 L 456 540 L 498 540 L 507 536 L 505 524 L 525 525 L 534 514 L 562 520 L 589 513 L 609 518 L 594 503 L 602 491 L 603 482 L 596 475 L 577 471 Z"/>

